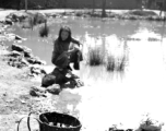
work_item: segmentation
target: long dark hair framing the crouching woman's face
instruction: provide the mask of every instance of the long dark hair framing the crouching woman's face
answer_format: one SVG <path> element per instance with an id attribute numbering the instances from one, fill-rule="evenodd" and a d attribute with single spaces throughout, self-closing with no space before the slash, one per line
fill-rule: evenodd
<path id="1" fill-rule="evenodd" d="M 66 31 L 66 32 L 68 32 L 69 33 L 69 37 L 64 40 L 64 41 L 71 41 L 71 29 L 70 29 L 70 27 L 69 26 L 62 26 L 61 28 L 60 28 L 60 31 L 59 31 L 59 36 L 58 36 L 58 40 L 59 41 L 63 41 L 62 39 L 61 39 L 61 33 L 62 33 L 62 31 Z"/>

